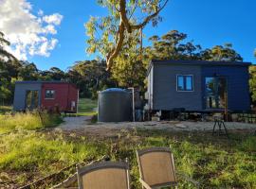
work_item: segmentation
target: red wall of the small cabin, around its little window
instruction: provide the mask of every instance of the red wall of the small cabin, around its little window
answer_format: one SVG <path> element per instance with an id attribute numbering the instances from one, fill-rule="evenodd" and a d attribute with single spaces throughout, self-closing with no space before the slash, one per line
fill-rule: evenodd
<path id="1" fill-rule="evenodd" d="M 54 99 L 46 99 L 46 90 L 55 90 Z M 61 112 L 71 111 L 71 101 L 75 101 L 73 112 L 77 111 L 78 89 L 68 83 L 44 83 L 42 85 L 41 106 L 51 109 L 58 106 Z"/>

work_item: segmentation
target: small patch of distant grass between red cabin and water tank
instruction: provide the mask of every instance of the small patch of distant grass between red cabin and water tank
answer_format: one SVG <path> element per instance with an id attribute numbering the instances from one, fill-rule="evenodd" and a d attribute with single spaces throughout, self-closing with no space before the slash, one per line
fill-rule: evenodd
<path id="1" fill-rule="evenodd" d="M 89 98 L 80 98 L 77 115 L 95 115 L 97 113 L 95 111 L 95 109 L 98 106 L 97 103 L 97 100 L 92 100 Z"/>

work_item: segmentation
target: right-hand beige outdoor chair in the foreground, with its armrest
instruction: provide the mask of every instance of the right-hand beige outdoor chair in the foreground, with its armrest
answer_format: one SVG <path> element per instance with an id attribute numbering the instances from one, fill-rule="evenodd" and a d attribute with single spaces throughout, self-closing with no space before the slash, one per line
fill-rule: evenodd
<path id="1" fill-rule="evenodd" d="M 177 188 L 174 157 L 169 147 L 151 147 L 137 150 L 139 181 L 143 189 L 155 189 L 171 186 Z M 199 183 L 182 175 L 180 177 L 192 182 L 197 188 Z"/>

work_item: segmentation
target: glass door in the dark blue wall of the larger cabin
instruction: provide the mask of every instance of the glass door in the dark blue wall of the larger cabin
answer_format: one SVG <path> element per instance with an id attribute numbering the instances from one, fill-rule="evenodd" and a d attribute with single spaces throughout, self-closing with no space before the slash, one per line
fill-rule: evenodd
<path id="1" fill-rule="evenodd" d="M 226 77 L 205 78 L 206 109 L 225 109 L 228 102 Z"/>

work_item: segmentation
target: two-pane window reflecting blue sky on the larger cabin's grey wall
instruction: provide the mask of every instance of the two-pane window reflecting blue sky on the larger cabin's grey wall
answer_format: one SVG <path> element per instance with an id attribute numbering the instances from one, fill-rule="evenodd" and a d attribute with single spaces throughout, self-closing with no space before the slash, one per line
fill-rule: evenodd
<path id="1" fill-rule="evenodd" d="M 178 75 L 177 76 L 177 91 L 178 92 L 192 92 L 193 91 L 192 75 Z"/>

